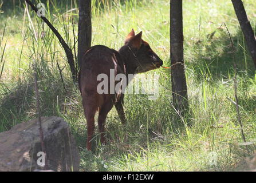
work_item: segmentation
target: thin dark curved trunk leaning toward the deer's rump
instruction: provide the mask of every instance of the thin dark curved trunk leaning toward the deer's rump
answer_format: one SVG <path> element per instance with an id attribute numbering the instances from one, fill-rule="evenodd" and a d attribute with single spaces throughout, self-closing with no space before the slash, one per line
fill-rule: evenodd
<path id="1" fill-rule="evenodd" d="M 31 1 L 29 0 L 25 0 L 30 6 L 31 8 L 37 13 L 38 9 L 36 6 L 33 5 L 33 3 L 31 3 Z M 42 20 L 50 27 L 50 29 L 53 31 L 53 33 L 56 35 L 56 37 L 58 38 L 58 41 L 60 41 L 65 53 L 66 53 L 66 58 L 68 59 L 68 63 L 70 66 L 70 70 L 71 70 L 71 74 L 72 74 L 72 78 L 73 78 L 73 82 L 77 82 L 77 70 L 76 67 L 74 65 L 74 58 L 73 58 L 73 53 L 72 50 L 70 49 L 70 47 L 66 44 L 66 42 L 64 41 L 64 39 L 62 38 L 61 34 L 55 29 L 55 27 L 52 25 L 52 23 L 50 23 L 48 21 L 47 18 L 45 18 L 44 16 L 41 17 Z"/>

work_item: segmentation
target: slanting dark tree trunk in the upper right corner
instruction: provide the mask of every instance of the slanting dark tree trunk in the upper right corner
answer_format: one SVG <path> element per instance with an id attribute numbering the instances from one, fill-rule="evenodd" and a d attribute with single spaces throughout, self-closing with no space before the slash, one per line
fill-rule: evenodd
<path id="1" fill-rule="evenodd" d="M 247 18 L 245 7 L 241 0 L 231 0 L 235 9 L 235 14 L 237 14 L 238 21 L 240 23 L 243 35 L 245 36 L 247 47 L 250 51 L 251 58 L 253 58 L 254 66 L 256 69 L 256 40 L 251 27 L 251 23 Z"/>

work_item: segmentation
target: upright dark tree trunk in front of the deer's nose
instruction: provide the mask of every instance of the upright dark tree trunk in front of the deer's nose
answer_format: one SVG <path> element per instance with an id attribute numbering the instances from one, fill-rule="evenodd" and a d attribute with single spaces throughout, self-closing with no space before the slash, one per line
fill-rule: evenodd
<path id="1" fill-rule="evenodd" d="M 171 0 L 170 21 L 172 97 L 176 110 L 182 114 L 188 107 L 183 58 L 182 0 Z"/>

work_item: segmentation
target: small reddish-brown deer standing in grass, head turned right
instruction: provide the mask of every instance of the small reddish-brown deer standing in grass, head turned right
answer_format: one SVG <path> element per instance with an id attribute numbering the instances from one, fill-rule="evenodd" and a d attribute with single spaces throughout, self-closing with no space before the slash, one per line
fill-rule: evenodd
<path id="1" fill-rule="evenodd" d="M 84 107 L 87 121 L 87 149 L 91 150 L 92 136 L 94 131 L 94 116 L 99 111 L 98 126 L 101 133 L 101 144 L 105 143 L 104 125 L 107 114 L 115 105 L 119 118 L 125 124 L 125 114 L 123 108 L 124 93 L 111 93 L 111 85 L 108 84 L 108 92 L 97 92 L 97 81 L 99 74 L 106 74 L 110 81 L 110 70 L 117 74 L 137 74 L 152 69 L 157 69 L 163 65 L 163 61 L 154 53 L 147 42 L 141 39 L 142 32 L 135 35 L 134 30 L 128 34 L 125 44 L 119 51 L 109 49 L 106 46 L 96 45 L 85 51 L 82 57 L 82 66 L 78 75 L 80 92 L 82 95 L 82 105 Z M 127 77 L 128 78 L 128 77 Z M 127 79 L 128 80 L 128 79 Z M 127 85 L 128 85 L 127 81 Z M 113 86 L 113 85 L 112 85 Z M 121 86 L 126 87 L 126 86 Z"/>

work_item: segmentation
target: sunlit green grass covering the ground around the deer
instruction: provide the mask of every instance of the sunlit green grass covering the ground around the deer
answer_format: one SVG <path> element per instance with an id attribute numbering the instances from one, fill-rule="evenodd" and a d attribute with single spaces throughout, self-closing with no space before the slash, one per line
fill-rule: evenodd
<path id="1" fill-rule="evenodd" d="M 68 3 L 68 6 L 46 4 L 46 17 L 73 46 L 72 17 L 77 30 L 77 9 L 72 10 L 76 7 L 73 1 Z M 92 45 L 118 50 L 132 28 L 136 33 L 142 30 L 143 39 L 163 59 L 164 65 L 169 66 L 169 3 L 166 0 L 92 1 Z M 248 0 L 245 8 L 255 31 L 253 4 L 253 0 Z M 116 110 L 112 109 L 106 121 L 108 144 L 99 144 L 96 128 L 93 152 L 85 150 L 86 121 L 81 96 L 70 77 L 64 50 L 38 17 L 33 13 L 30 13 L 31 21 L 27 15 L 23 17 L 23 7 L 17 5 L 15 14 L 3 8 L 0 14 L 5 20 L 0 22 L 0 71 L 3 68 L 0 132 L 36 117 L 33 89 L 33 64 L 36 63 L 42 115 L 60 116 L 68 122 L 80 149 L 81 171 L 247 169 L 244 160 L 253 155 L 255 144 L 249 145 L 249 154 L 245 146 L 239 145 L 242 137 L 235 105 L 231 102 L 234 101 L 233 53 L 227 30 L 219 29 L 223 22 L 235 45 L 238 100 L 247 141 L 256 138 L 256 75 L 231 1 L 183 1 L 184 58 L 190 105 L 187 116 L 177 118 L 172 108 L 170 71 L 151 71 L 148 74 L 160 75 L 157 100 L 148 100 L 143 94 L 128 94 L 125 97 L 128 124 L 121 125 Z M 63 69 L 66 92 L 56 61 Z M 216 162 L 211 158 L 214 156 Z"/>

